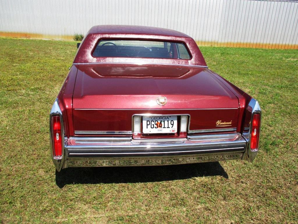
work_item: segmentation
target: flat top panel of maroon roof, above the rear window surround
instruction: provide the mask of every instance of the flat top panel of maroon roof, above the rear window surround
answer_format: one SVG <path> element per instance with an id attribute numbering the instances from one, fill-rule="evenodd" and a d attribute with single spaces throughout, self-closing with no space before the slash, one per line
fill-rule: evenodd
<path id="1" fill-rule="evenodd" d="M 188 37 L 190 36 L 176 30 L 165 29 L 160 27 L 148 26 L 133 26 L 133 25 L 97 25 L 91 27 L 88 34 L 93 33 L 109 33 L 109 34 L 140 34 L 140 35 L 158 35 L 158 36 L 173 36 L 173 37 Z"/>

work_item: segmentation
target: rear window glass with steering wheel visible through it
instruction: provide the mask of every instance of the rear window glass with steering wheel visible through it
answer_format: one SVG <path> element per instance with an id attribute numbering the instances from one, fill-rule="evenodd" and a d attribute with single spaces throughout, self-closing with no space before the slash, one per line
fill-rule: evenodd
<path id="1" fill-rule="evenodd" d="M 190 59 L 182 43 L 143 40 L 101 40 L 93 56 Z"/>

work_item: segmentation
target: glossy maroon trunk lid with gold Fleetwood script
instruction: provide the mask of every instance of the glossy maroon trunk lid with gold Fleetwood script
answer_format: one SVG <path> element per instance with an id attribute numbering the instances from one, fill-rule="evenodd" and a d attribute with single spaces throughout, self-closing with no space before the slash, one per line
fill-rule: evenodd
<path id="1" fill-rule="evenodd" d="M 160 96 L 167 98 L 163 106 L 156 102 Z M 236 128 L 239 102 L 204 67 L 79 65 L 73 93 L 76 133 L 126 131 L 129 134 L 132 116 L 148 113 L 189 114 L 190 130 Z"/>

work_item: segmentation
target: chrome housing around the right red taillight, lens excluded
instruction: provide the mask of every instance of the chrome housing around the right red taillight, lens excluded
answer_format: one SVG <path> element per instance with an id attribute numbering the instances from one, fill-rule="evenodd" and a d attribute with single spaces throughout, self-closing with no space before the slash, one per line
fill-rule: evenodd
<path id="1" fill-rule="evenodd" d="M 258 150 L 259 150 L 259 146 L 256 150 L 251 150 L 250 149 L 250 136 L 252 134 L 252 118 L 254 116 L 255 113 L 259 113 L 260 114 L 260 125 L 261 125 L 261 119 L 262 119 L 262 112 L 261 112 L 261 108 L 259 103 L 257 102 L 256 99 L 252 98 L 247 106 L 246 109 L 246 115 L 245 116 L 251 116 L 250 118 L 250 127 L 249 127 L 249 132 L 244 132 L 247 130 L 243 131 L 242 136 L 244 137 L 244 139 L 248 142 L 248 144 L 246 145 L 246 149 L 245 149 L 245 153 L 243 154 L 243 158 L 249 162 L 254 161 L 254 158 L 257 156 Z M 260 141 L 260 132 L 261 132 L 261 127 L 260 127 L 260 131 L 259 131 L 259 141 Z"/>

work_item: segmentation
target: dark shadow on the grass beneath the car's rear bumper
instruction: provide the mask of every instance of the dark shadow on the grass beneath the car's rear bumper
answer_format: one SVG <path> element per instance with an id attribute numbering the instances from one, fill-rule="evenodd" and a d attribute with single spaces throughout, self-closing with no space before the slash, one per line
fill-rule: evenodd
<path id="1" fill-rule="evenodd" d="M 139 183 L 193 177 L 222 176 L 229 178 L 219 162 L 139 167 L 82 167 L 56 171 L 56 184 Z"/>

